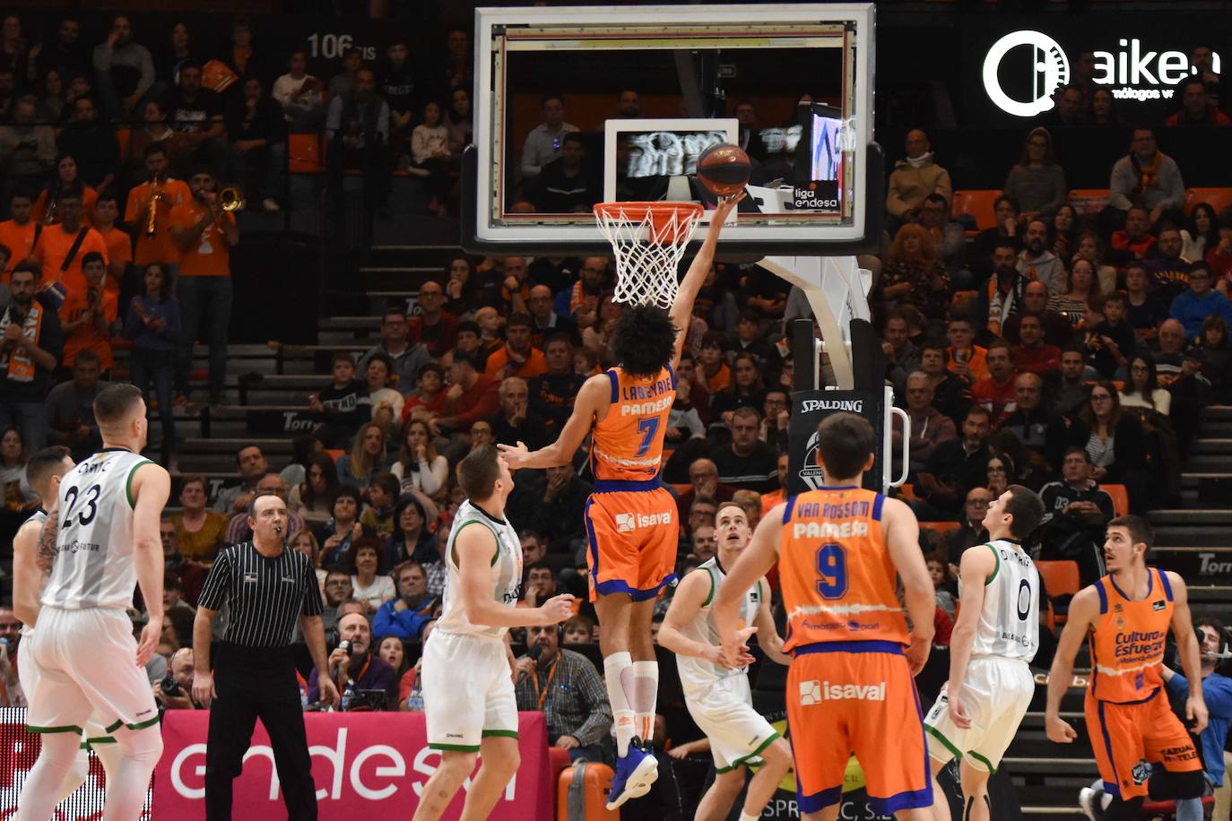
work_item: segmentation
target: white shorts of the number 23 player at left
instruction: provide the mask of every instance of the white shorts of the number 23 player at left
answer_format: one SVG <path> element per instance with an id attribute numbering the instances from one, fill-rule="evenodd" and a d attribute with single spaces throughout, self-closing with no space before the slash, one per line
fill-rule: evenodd
<path id="1" fill-rule="evenodd" d="M 137 666 L 133 623 L 123 611 L 44 607 L 32 645 L 39 681 L 30 694 L 31 732 L 81 732 L 91 715 L 105 732 L 158 724 L 154 693 Z"/>

